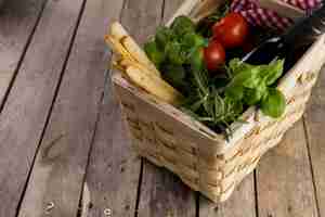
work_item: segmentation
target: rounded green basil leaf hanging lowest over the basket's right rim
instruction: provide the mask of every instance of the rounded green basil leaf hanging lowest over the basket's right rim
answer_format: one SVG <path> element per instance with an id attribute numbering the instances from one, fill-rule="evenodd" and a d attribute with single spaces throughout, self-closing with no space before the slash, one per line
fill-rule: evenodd
<path id="1" fill-rule="evenodd" d="M 278 118 L 283 115 L 286 108 L 286 100 L 284 94 L 275 89 L 270 88 L 268 95 L 262 100 L 261 110 L 264 115 Z"/>

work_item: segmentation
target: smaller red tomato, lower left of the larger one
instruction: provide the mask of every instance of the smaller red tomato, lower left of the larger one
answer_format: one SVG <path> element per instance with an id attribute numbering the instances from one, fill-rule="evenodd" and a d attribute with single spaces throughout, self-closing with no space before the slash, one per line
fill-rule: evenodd
<path id="1" fill-rule="evenodd" d="M 204 49 L 204 61 L 208 71 L 217 71 L 225 61 L 225 52 L 221 43 L 211 40 L 208 47 Z"/>

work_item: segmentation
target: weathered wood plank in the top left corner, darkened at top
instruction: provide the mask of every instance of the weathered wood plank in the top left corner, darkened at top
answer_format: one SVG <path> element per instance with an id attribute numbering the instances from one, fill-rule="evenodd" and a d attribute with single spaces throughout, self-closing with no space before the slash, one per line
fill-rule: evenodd
<path id="1" fill-rule="evenodd" d="M 43 2 L 12 0 L 0 9 L 0 104 L 32 36 Z"/>

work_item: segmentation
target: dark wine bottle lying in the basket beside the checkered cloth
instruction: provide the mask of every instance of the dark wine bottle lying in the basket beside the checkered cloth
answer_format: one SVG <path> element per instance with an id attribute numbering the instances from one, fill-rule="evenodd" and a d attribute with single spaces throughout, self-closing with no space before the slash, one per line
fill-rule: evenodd
<path id="1" fill-rule="evenodd" d="M 282 36 L 262 42 L 246 54 L 242 61 L 259 65 L 269 64 L 275 58 L 285 59 L 284 69 L 288 71 L 296 63 L 295 52 L 310 46 L 323 33 L 325 33 L 325 3 L 310 15 L 298 21 Z"/>

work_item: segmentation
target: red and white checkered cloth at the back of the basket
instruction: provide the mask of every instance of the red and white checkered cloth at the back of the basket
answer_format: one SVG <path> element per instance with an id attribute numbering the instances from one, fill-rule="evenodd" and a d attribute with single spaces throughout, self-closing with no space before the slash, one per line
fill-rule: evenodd
<path id="1" fill-rule="evenodd" d="M 322 3 L 322 0 L 282 0 L 285 3 L 309 11 Z M 287 28 L 292 21 L 281 17 L 276 12 L 260 8 L 256 0 L 233 0 L 231 10 L 240 13 L 247 22 L 257 26 L 268 26 L 283 30 Z"/>

